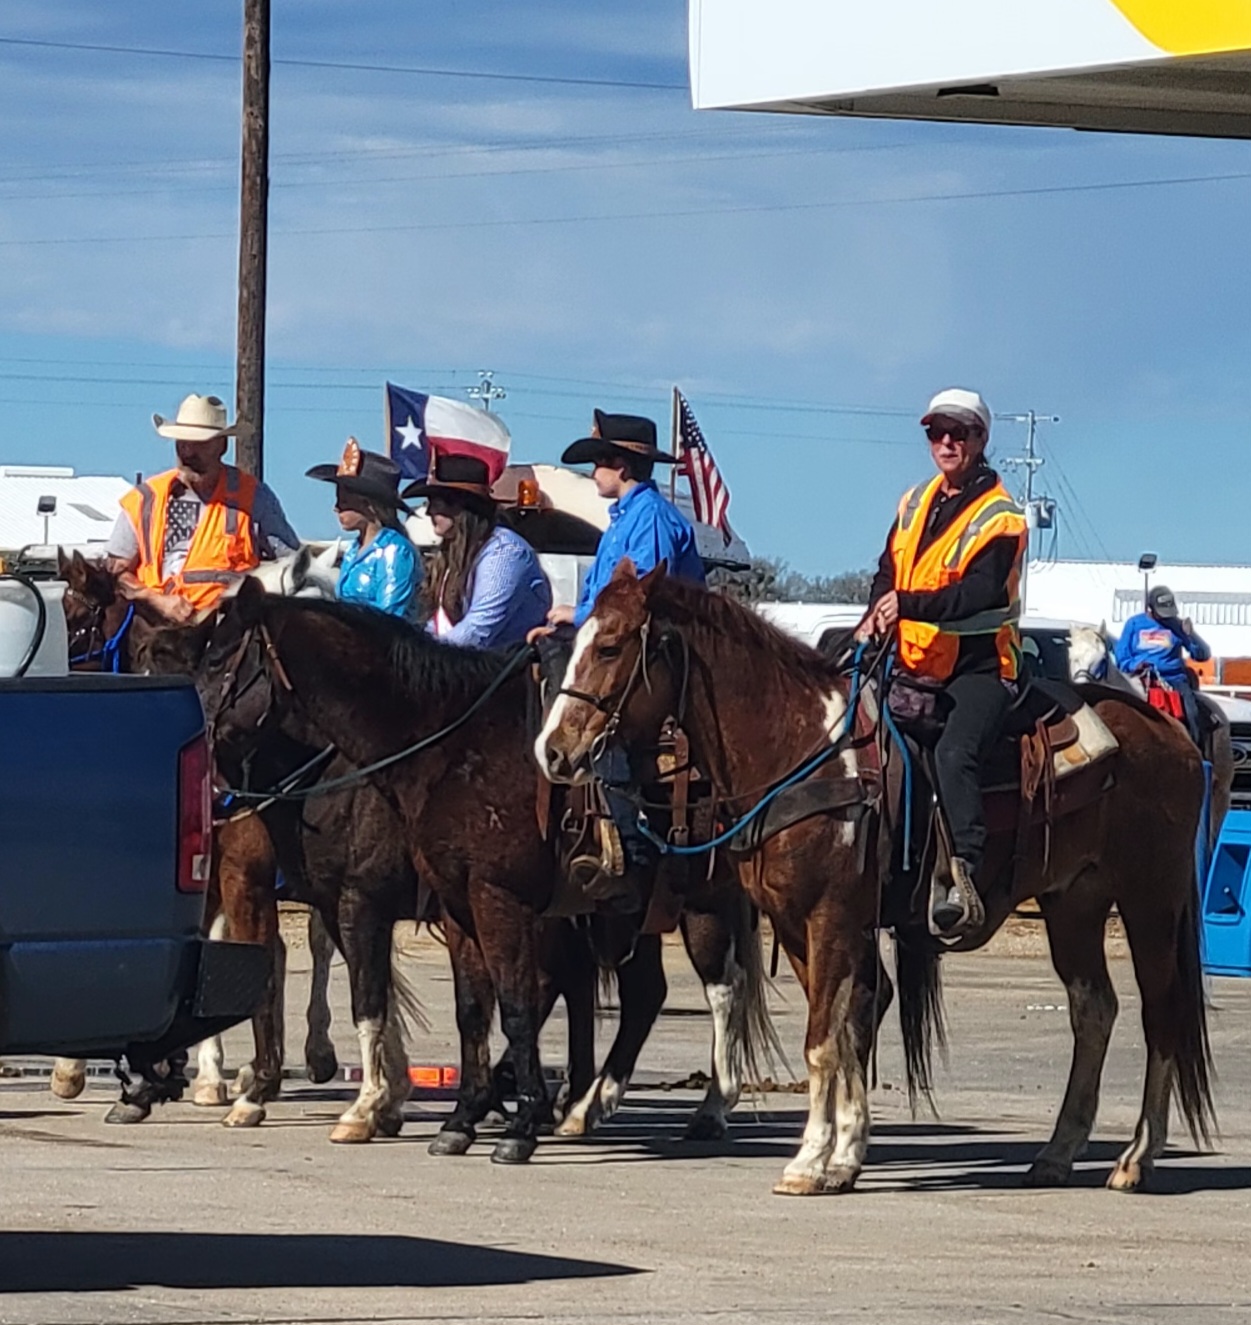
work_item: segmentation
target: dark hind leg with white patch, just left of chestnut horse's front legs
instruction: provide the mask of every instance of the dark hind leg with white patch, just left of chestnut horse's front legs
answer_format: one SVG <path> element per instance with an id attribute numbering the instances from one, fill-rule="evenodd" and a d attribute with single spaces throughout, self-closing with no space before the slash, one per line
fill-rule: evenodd
<path id="1" fill-rule="evenodd" d="M 713 1018 L 712 1080 L 704 1102 L 686 1124 L 685 1140 L 720 1141 L 742 1092 L 747 973 L 738 961 L 735 935 L 724 916 L 684 910 L 681 929 L 686 955 L 704 984 Z"/>

